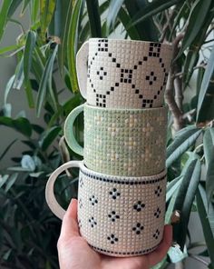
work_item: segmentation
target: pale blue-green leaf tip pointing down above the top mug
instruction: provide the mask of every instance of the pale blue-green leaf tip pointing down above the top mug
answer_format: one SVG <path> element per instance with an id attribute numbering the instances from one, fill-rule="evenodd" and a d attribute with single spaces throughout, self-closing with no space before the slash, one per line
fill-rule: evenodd
<path id="1" fill-rule="evenodd" d="M 111 0 L 111 2 L 109 4 L 109 11 L 108 11 L 107 23 L 106 23 L 107 35 L 109 35 L 111 29 L 115 25 L 117 15 L 122 7 L 123 2 L 124 2 L 124 0 L 118 0 L 118 1 Z"/>

